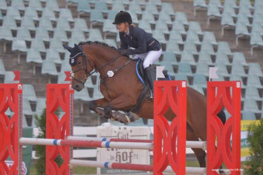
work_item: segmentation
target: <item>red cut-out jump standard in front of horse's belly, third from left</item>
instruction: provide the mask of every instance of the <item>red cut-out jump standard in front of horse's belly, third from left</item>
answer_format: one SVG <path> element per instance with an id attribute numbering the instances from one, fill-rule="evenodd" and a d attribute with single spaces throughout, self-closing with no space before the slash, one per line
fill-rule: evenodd
<path id="1" fill-rule="evenodd" d="M 176 174 L 184 175 L 186 81 L 155 81 L 154 96 L 154 174 L 163 174 L 169 163 Z M 166 113 L 176 116 L 170 125 Z"/>

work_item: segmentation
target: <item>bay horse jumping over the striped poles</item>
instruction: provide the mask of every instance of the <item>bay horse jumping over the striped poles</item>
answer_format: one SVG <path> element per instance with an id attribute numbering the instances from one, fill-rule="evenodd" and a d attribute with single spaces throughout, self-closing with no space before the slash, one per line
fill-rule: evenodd
<path id="1" fill-rule="evenodd" d="M 71 48 L 64 46 L 70 55 L 72 66 L 72 87 L 76 91 L 84 88 L 87 78 L 95 71 L 100 73 L 99 89 L 102 99 L 89 103 L 90 110 L 106 118 L 116 118 L 114 111 L 128 112 L 137 104 L 143 84 L 136 74 L 136 61 L 120 55 L 114 48 L 105 43 L 86 42 Z M 145 100 L 141 110 L 135 114 L 138 117 L 153 119 L 153 101 Z M 121 117 L 120 117 L 121 116 Z M 165 114 L 168 121 L 172 121 L 174 113 Z M 218 117 L 225 123 L 225 114 L 221 110 Z M 127 123 L 127 118 L 117 112 L 117 120 Z M 207 140 L 207 99 L 206 97 L 187 87 L 187 124 L 186 140 Z M 206 167 L 206 152 L 200 148 L 191 148 L 201 167 Z"/>

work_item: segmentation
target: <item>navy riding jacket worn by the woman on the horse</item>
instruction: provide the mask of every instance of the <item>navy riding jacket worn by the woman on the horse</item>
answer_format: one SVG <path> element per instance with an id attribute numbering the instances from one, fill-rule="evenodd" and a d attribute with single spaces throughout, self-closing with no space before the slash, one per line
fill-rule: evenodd
<path id="1" fill-rule="evenodd" d="M 118 50 L 126 49 L 127 55 L 142 54 L 161 49 L 161 44 L 139 27 L 129 26 L 129 35 L 119 32 L 119 38 L 120 48 Z M 128 46 L 135 49 L 128 49 Z"/>

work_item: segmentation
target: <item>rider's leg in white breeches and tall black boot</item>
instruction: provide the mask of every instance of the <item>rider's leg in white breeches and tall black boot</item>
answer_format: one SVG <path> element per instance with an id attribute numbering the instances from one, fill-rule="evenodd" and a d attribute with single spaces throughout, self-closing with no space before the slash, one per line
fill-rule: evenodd
<path id="1" fill-rule="evenodd" d="M 162 49 L 157 51 L 152 50 L 148 52 L 147 56 L 144 59 L 144 69 L 152 92 L 154 89 L 154 80 L 156 79 L 152 65 L 159 59 L 161 54 Z"/>

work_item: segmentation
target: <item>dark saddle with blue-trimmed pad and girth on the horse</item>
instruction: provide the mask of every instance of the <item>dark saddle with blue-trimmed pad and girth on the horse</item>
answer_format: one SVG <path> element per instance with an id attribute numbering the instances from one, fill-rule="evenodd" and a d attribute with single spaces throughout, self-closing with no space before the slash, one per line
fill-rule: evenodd
<path id="1" fill-rule="evenodd" d="M 142 103 L 145 100 L 150 100 L 150 97 L 151 97 L 149 83 L 148 83 L 147 77 L 145 76 L 145 72 L 144 72 L 143 62 L 144 61 L 140 58 L 138 58 L 136 62 L 136 74 L 143 84 L 143 90 L 141 91 L 140 96 L 137 99 L 137 104 L 129 110 L 130 112 L 133 112 L 133 113 L 138 113 L 142 107 Z M 154 70 L 154 72 L 156 75 L 156 70 Z M 165 78 L 158 78 L 158 80 L 172 80 L 167 70 L 163 70 L 163 74 Z"/>

